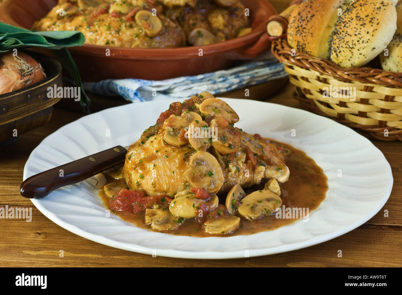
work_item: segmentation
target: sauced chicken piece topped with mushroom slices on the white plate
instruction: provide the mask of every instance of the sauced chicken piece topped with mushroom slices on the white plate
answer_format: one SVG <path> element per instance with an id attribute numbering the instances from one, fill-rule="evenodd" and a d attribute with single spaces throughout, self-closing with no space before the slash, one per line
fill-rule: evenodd
<path id="1" fill-rule="evenodd" d="M 210 132 L 209 137 L 200 135 L 201 141 L 209 138 L 210 144 L 203 150 L 189 142 L 189 134 L 197 134 L 197 130 L 187 132 L 186 126 L 197 128 L 192 120 L 204 122 L 200 130 Z M 174 197 L 189 188 L 221 194 L 236 184 L 259 184 L 264 177 L 287 181 L 289 169 L 281 151 L 258 134 L 248 134 L 229 124 L 238 120 L 227 103 L 210 93 L 172 103 L 128 149 L 123 168 L 128 187 L 144 190 L 148 196 Z M 166 132 L 170 132 L 168 141 L 175 145 L 166 142 Z"/>

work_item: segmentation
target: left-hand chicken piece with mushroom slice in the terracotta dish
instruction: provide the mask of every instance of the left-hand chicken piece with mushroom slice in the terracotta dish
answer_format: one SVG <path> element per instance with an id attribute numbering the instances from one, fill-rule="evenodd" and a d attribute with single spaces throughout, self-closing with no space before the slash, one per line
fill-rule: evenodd
<path id="1" fill-rule="evenodd" d="M 156 15 L 153 10 L 156 9 Z M 80 31 L 85 43 L 128 48 L 174 48 L 186 45 L 183 30 L 148 1 L 61 0 L 33 29 Z"/>

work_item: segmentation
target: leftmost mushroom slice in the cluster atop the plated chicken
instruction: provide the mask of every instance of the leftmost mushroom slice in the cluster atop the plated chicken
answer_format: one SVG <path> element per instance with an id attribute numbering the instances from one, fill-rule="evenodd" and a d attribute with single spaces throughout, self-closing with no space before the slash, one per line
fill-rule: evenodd
<path id="1" fill-rule="evenodd" d="M 193 111 L 183 112 L 180 116 L 170 115 L 162 126 L 162 128 L 165 129 L 163 139 L 168 144 L 174 146 L 187 144 L 187 140 L 185 139 L 185 128 L 189 127 L 189 125 L 195 120 L 202 121 L 202 118 L 199 114 Z"/>

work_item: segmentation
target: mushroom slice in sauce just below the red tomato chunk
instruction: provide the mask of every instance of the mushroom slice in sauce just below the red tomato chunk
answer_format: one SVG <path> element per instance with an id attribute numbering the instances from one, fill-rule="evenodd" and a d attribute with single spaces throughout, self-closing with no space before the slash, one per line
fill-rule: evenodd
<path id="1" fill-rule="evenodd" d="M 178 229 L 183 222 L 183 218 L 173 216 L 169 210 L 166 209 L 145 210 L 145 223 L 151 224 L 152 229 L 158 231 L 172 231 Z"/>

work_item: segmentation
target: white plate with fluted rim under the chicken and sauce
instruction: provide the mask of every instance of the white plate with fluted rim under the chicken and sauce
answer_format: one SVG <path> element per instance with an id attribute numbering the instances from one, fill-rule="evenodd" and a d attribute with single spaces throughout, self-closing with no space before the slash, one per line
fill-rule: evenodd
<path id="1" fill-rule="evenodd" d="M 296 250 L 328 241 L 373 217 L 392 189 L 391 167 L 369 140 L 330 119 L 300 109 L 252 100 L 224 99 L 249 133 L 305 151 L 328 177 L 328 192 L 308 222 L 254 235 L 187 237 L 135 227 L 106 217 L 98 190 L 88 180 L 60 188 L 33 204 L 51 221 L 111 247 L 178 258 L 242 258 Z M 72 122 L 45 138 L 31 153 L 24 179 L 116 145 L 127 146 L 177 99 L 114 107 Z M 295 136 L 291 136 L 292 129 Z M 110 136 L 106 136 L 107 132 Z M 342 171 L 342 177 L 338 177 Z"/>

